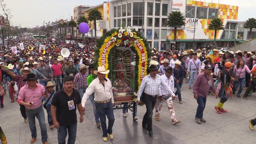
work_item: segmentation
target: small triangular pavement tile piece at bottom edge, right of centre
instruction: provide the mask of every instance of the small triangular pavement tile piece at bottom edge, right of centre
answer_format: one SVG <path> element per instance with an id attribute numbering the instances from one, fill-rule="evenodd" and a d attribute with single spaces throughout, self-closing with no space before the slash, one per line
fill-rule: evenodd
<path id="1" fill-rule="evenodd" d="M 220 144 L 219 142 L 202 135 L 189 138 L 187 140 L 184 140 L 184 142 L 186 142 L 187 144 Z"/>

